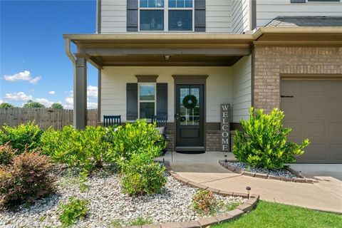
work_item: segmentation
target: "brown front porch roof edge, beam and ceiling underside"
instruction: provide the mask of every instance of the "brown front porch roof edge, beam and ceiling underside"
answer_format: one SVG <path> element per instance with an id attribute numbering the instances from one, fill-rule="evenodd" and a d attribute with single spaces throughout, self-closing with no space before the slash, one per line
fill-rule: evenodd
<path id="1" fill-rule="evenodd" d="M 251 53 L 251 34 L 125 33 L 64 35 L 77 55 L 103 66 L 232 66 Z M 170 56 L 169 59 L 165 56 Z"/>

